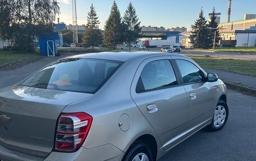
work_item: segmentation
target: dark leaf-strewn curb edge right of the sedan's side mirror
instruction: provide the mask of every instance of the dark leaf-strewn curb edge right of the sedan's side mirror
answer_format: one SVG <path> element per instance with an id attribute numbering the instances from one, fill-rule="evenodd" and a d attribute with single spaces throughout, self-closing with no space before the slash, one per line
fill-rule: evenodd
<path id="1" fill-rule="evenodd" d="M 255 96 L 256 97 L 256 88 L 252 86 L 247 85 L 241 85 L 230 81 L 222 80 L 227 88 L 239 91 L 240 93 L 243 93 L 245 95 Z"/>

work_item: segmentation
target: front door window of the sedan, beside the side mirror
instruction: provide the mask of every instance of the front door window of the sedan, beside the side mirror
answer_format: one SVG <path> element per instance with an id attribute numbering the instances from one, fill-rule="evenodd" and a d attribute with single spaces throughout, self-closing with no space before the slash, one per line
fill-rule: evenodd
<path id="1" fill-rule="evenodd" d="M 204 73 L 193 63 L 176 59 L 184 84 L 204 81 Z"/>

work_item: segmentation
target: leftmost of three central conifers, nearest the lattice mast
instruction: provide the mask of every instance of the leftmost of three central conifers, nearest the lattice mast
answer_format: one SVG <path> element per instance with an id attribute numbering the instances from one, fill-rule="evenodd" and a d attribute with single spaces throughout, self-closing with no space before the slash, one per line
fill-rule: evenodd
<path id="1" fill-rule="evenodd" d="M 82 43 L 86 47 L 92 46 L 94 48 L 96 45 L 99 45 L 102 42 L 102 34 L 99 29 L 99 17 L 97 17 L 97 13 L 92 4 L 90 6 L 90 11 L 87 16 L 87 24 L 85 26 L 85 33 L 82 38 Z"/>

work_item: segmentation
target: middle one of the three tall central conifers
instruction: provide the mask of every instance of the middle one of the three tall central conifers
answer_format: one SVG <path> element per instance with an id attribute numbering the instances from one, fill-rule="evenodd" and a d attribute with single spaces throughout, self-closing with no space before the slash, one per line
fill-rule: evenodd
<path id="1" fill-rule="evenodd" d="M 123 42 L 121 15 L 116 1 L 113 2 L 110 15 L 104 25 L 103 42 L 106 46 L 113 47 L 113 49 L 116 49 L 117 44 Z"/>

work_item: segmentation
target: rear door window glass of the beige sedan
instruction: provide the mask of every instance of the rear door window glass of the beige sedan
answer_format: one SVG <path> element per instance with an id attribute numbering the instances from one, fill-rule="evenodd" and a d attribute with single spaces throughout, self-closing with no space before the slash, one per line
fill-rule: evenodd
<path id="1" fill-rule="evenodd" d="M 177 85 L 177 79 L 170 61 L 153 61 L 145 65 L 141 71 L 136 92 L 161 89 L 172 85 Z"/>

